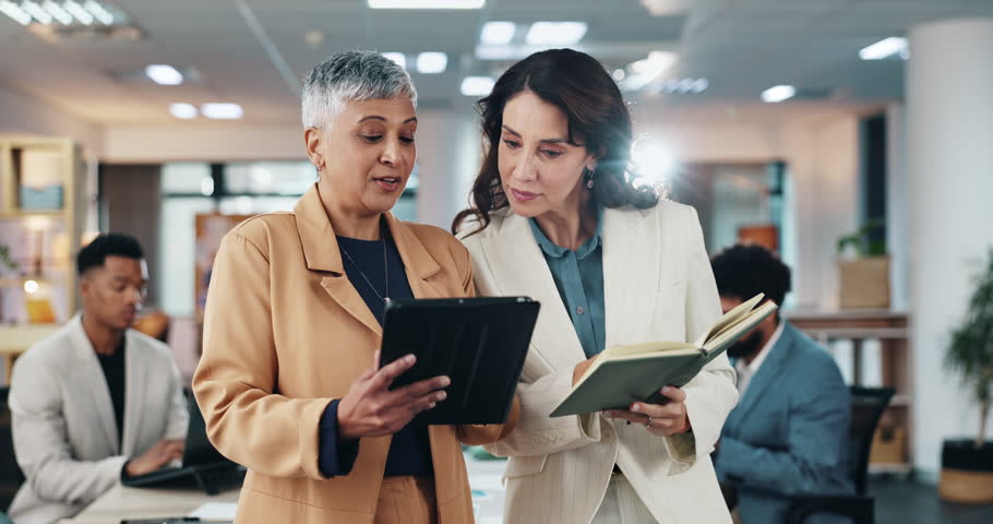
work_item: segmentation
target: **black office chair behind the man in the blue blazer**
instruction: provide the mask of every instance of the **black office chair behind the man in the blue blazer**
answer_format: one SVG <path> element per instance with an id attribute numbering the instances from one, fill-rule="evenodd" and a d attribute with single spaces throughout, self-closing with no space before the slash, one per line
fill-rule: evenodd
<path id="1" fill-rule="evenodd" d="M 802 524 L 814 513 L 847 516 L 854 524 L 875 522 L 875 501 L 865 495 L 869 481 L 869 452 L 872 436 L 880 418 L 889 405 L 896 390 L 893 388 L 862 388 L 853 385 L 851 391 L 851 425 L 849 426 L 848 467 L 854 495 L 824 497 L 797 497 L 786 513 L 787 524 Z"/>

